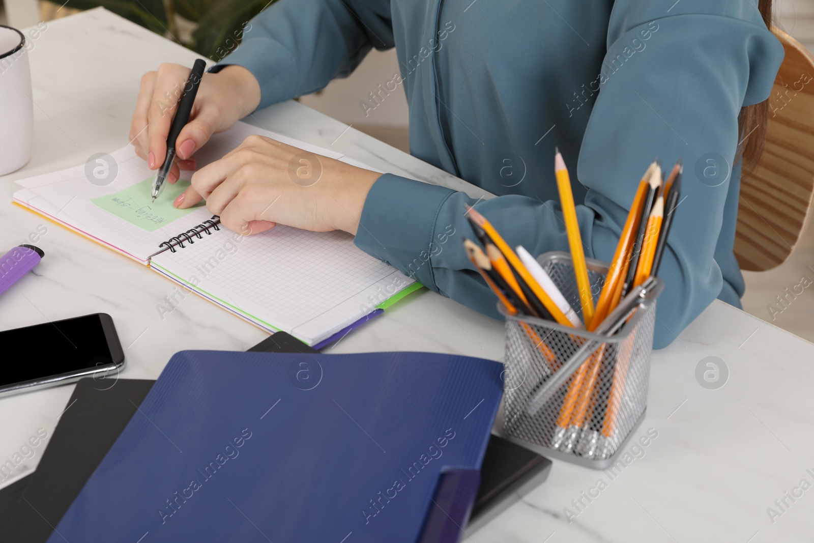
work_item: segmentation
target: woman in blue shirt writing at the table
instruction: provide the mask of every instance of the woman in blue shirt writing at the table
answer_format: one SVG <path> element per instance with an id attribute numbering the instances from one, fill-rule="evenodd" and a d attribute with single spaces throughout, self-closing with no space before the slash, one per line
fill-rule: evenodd
<path id="1" fill-rule="evenodd" d="M 685 164 L 660 270 L 654 344 L 666 346 L 716 297 L 740 305 L 733 256 L 740 162 L 754 160 L 783 49 L 771 0 L 279 0 L 237 50 L 204 76 L 178 138 L 180 166 L 257 107 L 322 89 L 372 48 L 396 46 L 409 102 L 410 152 L 499 195 L 461 192 L 322 160 L 312 186 L 291 182 L 299 150 L 248 138 L 192 177 L 176 205 L 207 200 L 231 230 L 275 223 L 346 230 L 365 252 L 427 287 L 497 317 L 462 249 L 475 204 L 509 243 L 567 250 L 553 156 L 566 157 L 586 256 L 609 261 L 654 156 Z M 142 78 L 130 137 L 157 169 L 166 96 L 189 71 Z M 744 107 L 742 109 L 742 107 Z M 166 108 L 166 106 L 164 106 Z M 740 125 L 739 125 L 740 120 Z M 147 125 L 147 129 L 144 129 Z M 177 179 L 177 166 L 170 180 Z M 443 250 L 440 240 L 454 232 Z"/>

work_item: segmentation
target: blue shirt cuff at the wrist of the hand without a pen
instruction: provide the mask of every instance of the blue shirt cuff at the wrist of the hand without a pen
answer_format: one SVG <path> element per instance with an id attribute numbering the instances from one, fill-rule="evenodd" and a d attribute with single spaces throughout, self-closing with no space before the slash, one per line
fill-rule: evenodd
<path id="1" fill-rule="evenodd" d="M 454 190 L 443 186 L 385 173 L 370 187 L 354 243 L 370 256 L 437 290 L 431 242 L 438 212 L 453 194 Z"/>

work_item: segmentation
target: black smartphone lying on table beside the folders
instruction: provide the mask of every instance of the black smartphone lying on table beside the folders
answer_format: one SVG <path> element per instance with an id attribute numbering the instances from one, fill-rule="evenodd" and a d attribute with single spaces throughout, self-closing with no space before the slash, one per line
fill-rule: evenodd
<path id="1" fill-rule="evenodd" d="M 107 313 L 0 331 L 0 348 L 18 353 L 0 372 L 0 396 L 83 377 L 98 379 L 125 366 L 125 352 Z"/>

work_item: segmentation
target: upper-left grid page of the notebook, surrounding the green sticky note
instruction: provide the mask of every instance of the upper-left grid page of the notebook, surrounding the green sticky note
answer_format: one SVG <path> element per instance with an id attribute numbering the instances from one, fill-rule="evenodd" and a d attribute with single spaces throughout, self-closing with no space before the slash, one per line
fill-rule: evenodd
<path id="1" fill-rule="evenodd" d="M 200 151 L 195 153 L 198 167 L 201 168 L 220 159 L 234 147 L 238 147 L 251 134 L 263 134 L 308 151 L 330 156 L 330 158 L 342 157 L 335 151 L 298 142 L 280 134 L 238 122 L 225 132 L 215 134 Z M 116 217 L 111 212 L 98 208 L 90 200 L 115 194 L 155 175 L 155 171 L 148 169 L 147 164 L 138 158 L 133 147 L 122 147 L 113 151 L 111 155 L 116 160 L 118 174 L 116 180 L 109 185 L 97 186 L 89 182 L 85 177 L 85 164 L 81 164 L 59 172 L 20 180 L 18 184 L 27 190 L 15 192 L 15 199 L 28 208 L 33 208 L 69 228 L 79 230 L 82 234 L 107 243 L 116 250 L 142 262 L 148 261 L 150 256 L 160 251 L 160 243 L 195 228 L 202 221 L 212 217 L 212 214 L 202 206 L 195 208 L 185 217 L 161 225 L 154 232 L 147 232 L 139 226 Z M 191 172 L 182 172 L 184 179 L 189 179 L 191 175 Z M 149 204 L 150 200 L 146 199 L 144 205 Z"/>

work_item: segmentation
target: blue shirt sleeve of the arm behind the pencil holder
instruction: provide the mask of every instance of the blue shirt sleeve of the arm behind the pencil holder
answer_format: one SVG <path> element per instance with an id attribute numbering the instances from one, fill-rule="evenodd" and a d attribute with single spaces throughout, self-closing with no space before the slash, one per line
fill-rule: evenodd
<path id="1" fill-rule="evenodd" d="M 641 42 L 634 38 L 654 28 L 658 33 L 636 62 L 612 71 L 614 59 L 632 55 L 631 44 Z M 747 0 L 684 0 L 667 16 L 661 1 L 614 3 L 602 68 L 607 75 L 575 172 L 588 188 L 577 212 L 586 256 L 610 261 L 647 164 L 654 156 L 670 164 L 684 157 L 683 199 L 659 272 L 667 288 L 659 299 L 656 348 L 670 344 L 721 291 L 714 253 L 729 180 L 708 186 L 696 164 L 708 153 L 733 164 L 740 109 L 768 97 L 782 58 L 781 44 Z M 462 250 L 462 236 L 473 237 L 463 217 L 466 203 L 475 201 L 384 175 L 365 201 L 356 243 L 427 287 L 497 318 L 495 297 Z M 512 245 L 532 254 L 567 251 L 555 202 L 506 195 L 475 207 Z"/>

